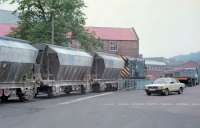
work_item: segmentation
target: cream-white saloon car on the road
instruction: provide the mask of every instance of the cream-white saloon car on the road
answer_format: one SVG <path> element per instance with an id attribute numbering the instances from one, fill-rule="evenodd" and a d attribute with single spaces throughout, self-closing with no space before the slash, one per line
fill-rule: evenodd
<path id="1" fill-rule="evenodd" d="M 185 84 L 180 83 L 174 78 L 159 78 L 155 80 L 153 84 L 146 85 L 145 91 L 148 96 L 152 93 L 158 93 L 167 96 L 170 92 L 182 94 L 184 88 Z"/>

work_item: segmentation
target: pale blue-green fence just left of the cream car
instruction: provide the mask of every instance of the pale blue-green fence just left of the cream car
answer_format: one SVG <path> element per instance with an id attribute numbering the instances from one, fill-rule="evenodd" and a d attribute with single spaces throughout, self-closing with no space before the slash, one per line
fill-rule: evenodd
<path id="1" fill-rule="evenodd" d="M 153 81 L 146 79 L 126 79 L 119 81 L 119 89 L 135 89 L 143 90 L 145 85 L 151 84 Z"/>

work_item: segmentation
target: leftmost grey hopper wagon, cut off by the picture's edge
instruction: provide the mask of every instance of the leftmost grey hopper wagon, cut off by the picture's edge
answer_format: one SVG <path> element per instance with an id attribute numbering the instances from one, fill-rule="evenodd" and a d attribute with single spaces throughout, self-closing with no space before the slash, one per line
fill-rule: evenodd
<path id="1" fill-rule="evenodd" d="M 18 96 L 20 100 L 33 97 L 33 65 L 38 50 L 30 42 L 0 37 L 0 97 L 7 100 Z"/>

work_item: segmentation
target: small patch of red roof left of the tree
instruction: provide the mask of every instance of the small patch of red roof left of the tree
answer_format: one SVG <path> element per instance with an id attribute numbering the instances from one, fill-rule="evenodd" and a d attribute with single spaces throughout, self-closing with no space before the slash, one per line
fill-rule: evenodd
<path id="1" fill-rule="evenodd" d="M 0 24 L 0 36 L 6 36 L 14 27 L 16 27 L 15 24 Z"/>

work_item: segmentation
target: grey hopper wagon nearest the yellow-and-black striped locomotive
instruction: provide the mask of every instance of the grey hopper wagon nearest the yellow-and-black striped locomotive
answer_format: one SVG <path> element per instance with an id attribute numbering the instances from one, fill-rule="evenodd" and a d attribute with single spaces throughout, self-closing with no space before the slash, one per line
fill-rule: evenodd
<path id="1" fill-rule="evenodd" d="M 92 89 L 95 92 L 117 90 L 120 72 L 124 67 L 118 55 L 97 52 L 92 65 Z"/>

